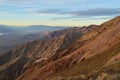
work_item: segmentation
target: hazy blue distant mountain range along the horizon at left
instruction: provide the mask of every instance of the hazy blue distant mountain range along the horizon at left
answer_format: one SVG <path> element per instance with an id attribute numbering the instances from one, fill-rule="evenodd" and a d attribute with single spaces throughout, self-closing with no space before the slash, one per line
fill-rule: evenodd
<path id="1" fill-rule="evenodd" d="M 6 26 L 0 25 L 0 33 L 13 33 L 13 32 L 47 32 L 67 29 L 65 26 L 45 26 L 45 25 L 32 25 L 32 26 Z"/>

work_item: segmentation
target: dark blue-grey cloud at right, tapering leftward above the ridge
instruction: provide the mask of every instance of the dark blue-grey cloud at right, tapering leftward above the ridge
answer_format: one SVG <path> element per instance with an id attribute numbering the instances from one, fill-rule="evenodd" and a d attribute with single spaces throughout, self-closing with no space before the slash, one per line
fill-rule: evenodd
<path id="1" fill-rule="evenodd" d="M 72 11 L 68 14 L 75 16 L 111 16 L 120 14 L 120 8 L 96 8 L 83 11 Z"/>

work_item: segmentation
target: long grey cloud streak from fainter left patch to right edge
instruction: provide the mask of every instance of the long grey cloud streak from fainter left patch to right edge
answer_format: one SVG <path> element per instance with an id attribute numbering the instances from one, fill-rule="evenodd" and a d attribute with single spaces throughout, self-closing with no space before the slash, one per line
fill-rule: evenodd
<path id="1" fill-rule="evenodd" d="M 89 10 L 78 11 L 62 11 L 60 9 L 47 9 L 43 11 L 37 11 L 37 13 L 45 14 L 68 14 L 74 16 L 111 16 L 120 14 L 120 8 L 95 8 Z"/>

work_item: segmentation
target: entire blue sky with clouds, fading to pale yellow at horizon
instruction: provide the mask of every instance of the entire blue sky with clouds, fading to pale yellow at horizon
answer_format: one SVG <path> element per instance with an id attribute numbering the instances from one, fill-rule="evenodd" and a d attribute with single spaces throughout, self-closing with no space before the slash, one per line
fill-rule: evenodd
<path id="1" fill-rule="evenodd" d="M 120 0 L 0 0 L 0 24 L 85 26 L 120 15 Z"/>

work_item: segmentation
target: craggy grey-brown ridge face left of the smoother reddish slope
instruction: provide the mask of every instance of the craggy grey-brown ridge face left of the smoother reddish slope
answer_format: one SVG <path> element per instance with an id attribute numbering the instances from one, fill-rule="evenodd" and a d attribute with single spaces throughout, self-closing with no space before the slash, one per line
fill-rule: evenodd
<path id="1" fill-rule="evenodd" d="M 44 66 L 49 63 L 49 59 L 52 56 L 73 44 L 82 35 L 81 28 L 55 31 L 43 40 L 28 42 L 3 54 L 0 56 L 0 79 L 14 79 L 24 72 L 26 67 L 32 67 L 31 65 L 36 65 L 40 62 L 39 66 Z"/>

